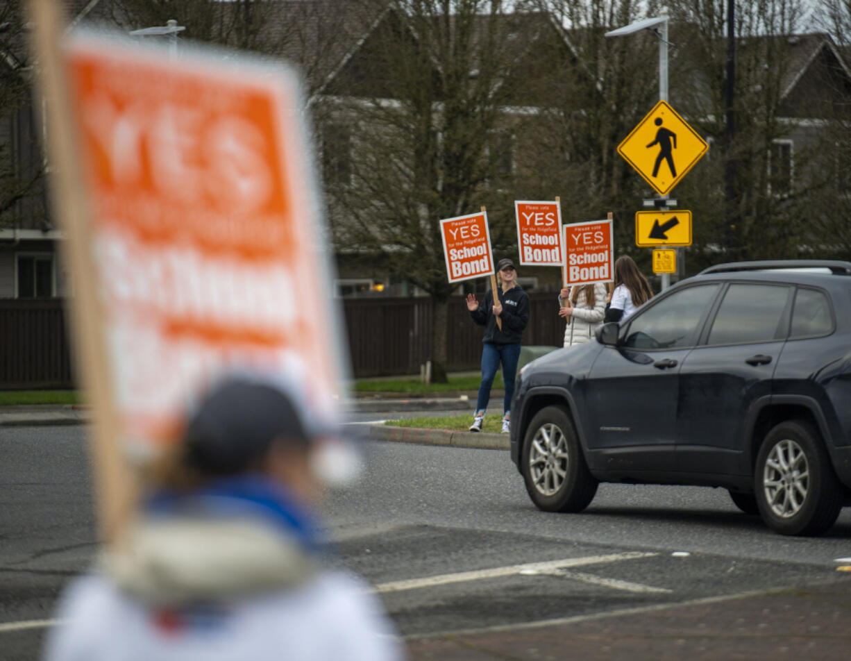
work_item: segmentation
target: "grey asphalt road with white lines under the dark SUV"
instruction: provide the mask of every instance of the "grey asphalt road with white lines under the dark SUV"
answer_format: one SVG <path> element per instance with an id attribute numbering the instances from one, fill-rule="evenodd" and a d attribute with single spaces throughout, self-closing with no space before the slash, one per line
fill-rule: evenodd
<path id="1" fill-rule="evenodd" d="M 357 429 L 366 435 L 368 425 Z M 96 550 L 83 433 L 0 429 L 3 661 L 37 658 L 40 621 Z M 851 557 L 851 510 L 821 538 L 786 538 L 740 514 L 722 490 L 603 485 L 585 513 L 551 515 L 531 505 L 505 451 L 363 445 L 361 480 L 329 493 L 326 515 L 341 560 L 380 591 L 413 658 L 546 658 L 529 651 L 540 640 L 527 644 L 517 634 L 511 641 L 524 652 L 514 655 L 474 655 L 469 642 L 445 646 L 475 632 L 494 641 L 518 624 L 587 622 L 671 604 L 687 613 L 736 595 L 851 587 L 851 574 L 837 572 L 838 559 Z M 798 625 L 820 640 L 820 627 L 835 632 L 840 624 L 847 650 L 851 626 L 836 622 L 831 597 L 810 597 L 808 606 L 799 615 L 789 606 Z M 728 634 L 781 621 L 768 607 L 754 617 L 764 622 L 743 614 Z M 520 631 L 532 630 L 542 631 Z"/>

